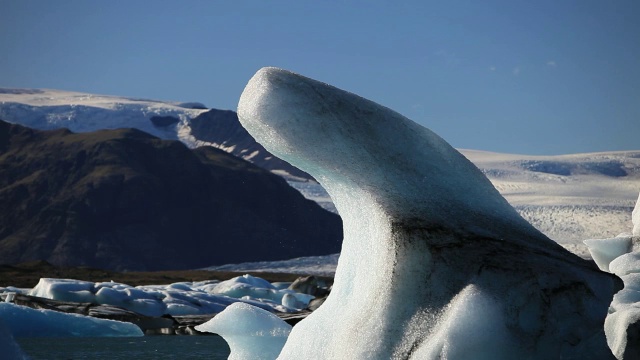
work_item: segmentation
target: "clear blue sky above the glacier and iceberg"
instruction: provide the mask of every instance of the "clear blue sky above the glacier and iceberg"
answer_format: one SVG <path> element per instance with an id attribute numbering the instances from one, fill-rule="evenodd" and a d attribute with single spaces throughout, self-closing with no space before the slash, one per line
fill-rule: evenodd
<path id="1" fill-rule="evenodd" d="M 234 109 L 278 66 L 459 148 L 640 149 L 640 2 L 0 0 L 0 87 Z"/>

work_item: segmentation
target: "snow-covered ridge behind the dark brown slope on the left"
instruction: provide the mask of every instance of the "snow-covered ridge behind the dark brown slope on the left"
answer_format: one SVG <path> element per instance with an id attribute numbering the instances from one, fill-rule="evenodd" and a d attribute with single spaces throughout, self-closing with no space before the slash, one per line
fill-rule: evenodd
<path id="1" fill-rule="evenodd" d="M 136 128 L 190 148 L 213 146 L 290 180 L 310 176 L 274 157 L 240 125 L 234 111 L 48 89 L 0 88 L 0 119 L 40 130 Z"/>

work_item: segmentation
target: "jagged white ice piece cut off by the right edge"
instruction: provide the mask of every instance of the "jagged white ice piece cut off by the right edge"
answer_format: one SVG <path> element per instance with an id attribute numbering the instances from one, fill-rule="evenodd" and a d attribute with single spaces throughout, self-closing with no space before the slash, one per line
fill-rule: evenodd
<path id="1" fill-rule="evenodd" d="M 633 234 L 584 241 L 598 267 L 624 282 L 604 322 L 607 343 L 618 359 L 640 359 L 640 197 L 631 220 Z"/>

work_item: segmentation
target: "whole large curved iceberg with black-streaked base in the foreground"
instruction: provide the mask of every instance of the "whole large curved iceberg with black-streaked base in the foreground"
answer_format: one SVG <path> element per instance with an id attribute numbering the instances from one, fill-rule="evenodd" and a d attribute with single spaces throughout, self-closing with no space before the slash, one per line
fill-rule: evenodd
<path id="1" fill-rule="evenodd" d="M 330 85 L 261 69 L 243 126 L 342 216 L 331 295 L 282 359 L 611 358 L 616 278 L 524 221 L 458 151 Z"/>

